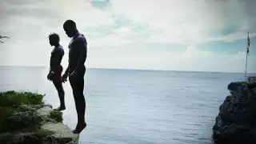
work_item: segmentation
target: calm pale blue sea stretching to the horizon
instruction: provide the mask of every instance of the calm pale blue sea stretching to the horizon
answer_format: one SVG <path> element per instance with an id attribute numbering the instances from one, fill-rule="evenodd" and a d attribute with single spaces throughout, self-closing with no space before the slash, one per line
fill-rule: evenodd
<path id="1" fill-rule="evenodd" d="M 58 94 L 47 81 L 47 68 L 0 66 L 0 87 L 46 94 L 58 106 Z M 86 71 L 86 121 L 79 143 L 208 144 L 218 106 L 232 81 L 244 74 L 147 70 Z M 69 83 L 64 123 L 77 117 Z"/>

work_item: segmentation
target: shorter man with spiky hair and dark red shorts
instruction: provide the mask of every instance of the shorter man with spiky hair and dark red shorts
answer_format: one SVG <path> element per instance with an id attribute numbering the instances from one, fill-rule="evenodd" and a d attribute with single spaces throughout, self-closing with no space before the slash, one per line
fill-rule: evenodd
<path id="1" fill-rule="evenodd" d="M 47 75 L 47 79 L 54 83 L 56 90 L 58 91 L 58 98 L 60 101 L 60 106 L 55 110 L 66 110 L 64 101 L 64 90 L 62 86 L 62 57 L 64 55 L 64 50 L 59 44 L 60 38 L 58 34 L 50 34 L 49 42 L 50 46 L 54 46 L 54 50 L 51 52 L 50 56 L 50 71 Z"/>

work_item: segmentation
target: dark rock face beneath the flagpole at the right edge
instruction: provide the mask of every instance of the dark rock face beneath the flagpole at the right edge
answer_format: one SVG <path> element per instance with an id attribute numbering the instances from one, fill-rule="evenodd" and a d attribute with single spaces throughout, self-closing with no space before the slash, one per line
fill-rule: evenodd
<path id="1" fill-rule="evenodd" d="M 256 143 L 256 90 L 247 89 L 246 82 L 231 82 L 230 96 L 219 107 L 213 127 L 218 144 Z"/>

